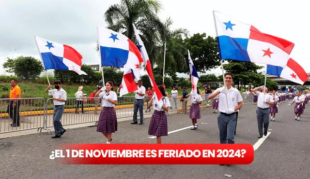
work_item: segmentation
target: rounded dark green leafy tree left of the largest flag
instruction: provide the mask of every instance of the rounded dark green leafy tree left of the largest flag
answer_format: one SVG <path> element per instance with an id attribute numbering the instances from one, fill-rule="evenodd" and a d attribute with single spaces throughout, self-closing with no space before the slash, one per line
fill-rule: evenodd
<path id="1" fill-rule="evenodd" d="M 206 37 L 205 33 L 197 33 L 190 38 L 186 38 L 184 46 L 189 49 L 197 71 L 206 72 L 220 65 L 217 40 L 213 37 Z M 187 54 L 185 59 L 188 59 Z M 182 72 L 189 73 L 188 65 Z"/>

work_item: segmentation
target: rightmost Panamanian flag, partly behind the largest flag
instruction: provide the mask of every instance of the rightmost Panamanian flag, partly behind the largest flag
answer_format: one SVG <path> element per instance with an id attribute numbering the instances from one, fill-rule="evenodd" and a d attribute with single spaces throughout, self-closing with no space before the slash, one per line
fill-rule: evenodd
<path id="1" fill-rule="evenodd" d="M 276 75 L 298 84 L 304 84 L 309 78 L 306 71 L 292 58 L 287 61 L 284 68 L 267 65 L 267 74 Z"/>

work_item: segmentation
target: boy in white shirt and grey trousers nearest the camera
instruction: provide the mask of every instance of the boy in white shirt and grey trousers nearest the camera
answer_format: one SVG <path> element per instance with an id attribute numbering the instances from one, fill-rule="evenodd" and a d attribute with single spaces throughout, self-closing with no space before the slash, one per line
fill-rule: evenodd
<path id="1" fill-rule="evenodd" d="M 218 95 L 218 111 L 217 117 L 219 129 L 219 141 L 221 144 L 234 144 L 234 129 L 236 127 L 236 111 L 242 107 L 242 96 L 238 89 L 232 87 L 233 74 L 225 73 L 226 87 L 217 88 L 209 99 Z M 228 104 L 227 104 L 228 102 Z"/>

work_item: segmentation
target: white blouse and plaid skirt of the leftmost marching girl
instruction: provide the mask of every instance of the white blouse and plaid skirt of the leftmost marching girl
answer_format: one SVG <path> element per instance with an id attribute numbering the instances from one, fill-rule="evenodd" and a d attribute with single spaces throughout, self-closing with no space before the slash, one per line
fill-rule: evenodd
<path id="1" fill-rule="evenodd" d="M 97 132 L 104 134 L 114 133 L 117 131 L 117 118 L 114 109 L 115 105 L 110 103 L 108 99 L 104 98 L 108 97 L 113 101 L 117 101 L 117 95 L 114 91 L 110 91 L 109 93 L 103 91 L 99 94 L 99 97 L 102 98 L 102 110 L 97 124 Z"/>

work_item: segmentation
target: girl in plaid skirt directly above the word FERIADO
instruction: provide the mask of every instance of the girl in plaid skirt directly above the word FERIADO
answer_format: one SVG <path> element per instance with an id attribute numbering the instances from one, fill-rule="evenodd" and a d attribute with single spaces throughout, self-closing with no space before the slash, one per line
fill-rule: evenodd
<path id="1" fill-rule="evenodd" d="M 154 100 L 155 96 L 148 103 L 148 107 L 153 105 L 154 113 L 152 114 L 149 135 L 156 136 L 157 144 L 161 144 L 161 137 L 168 136 L 168 124 L 167 124 L 167 112 L 170 107 L 169 98 L 165 94 L 165 89 L 162 85 L 158 86 L 160 93 L 162 94 L 162 102 L 157 102 Z"/>

